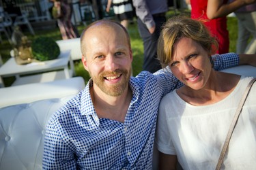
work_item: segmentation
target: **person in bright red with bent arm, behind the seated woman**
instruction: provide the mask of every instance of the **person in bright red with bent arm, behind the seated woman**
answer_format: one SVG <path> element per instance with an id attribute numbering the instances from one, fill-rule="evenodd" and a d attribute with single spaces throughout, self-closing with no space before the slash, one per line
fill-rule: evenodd
<path id="1" fill-rule="evenodd" d="M 229 32 L 227 30 L 227 15 L 239 7 L 254 3 L 255 0 L 190 0 L 191 18 L 203 20 L 204 24 L 218 40 L 218 54 L 229 52 Z"/>

